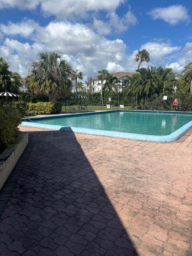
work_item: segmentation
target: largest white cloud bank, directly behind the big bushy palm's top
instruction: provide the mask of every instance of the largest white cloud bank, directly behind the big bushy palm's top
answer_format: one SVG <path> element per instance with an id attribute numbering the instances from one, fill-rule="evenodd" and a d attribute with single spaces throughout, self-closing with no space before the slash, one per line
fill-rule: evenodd
<path id="1" fill-rule="evenodd" d="M 12 70 L 21 76 L 28 73 L 30 61 L 44 50 L 59 50 L 73 68 L 81 69 L 84 74 L 94 74 L 100 68 L 106 68 L 108 62 L 121 61 L 126 54 L 122 40 L 103 38 L 84 24 L 50 22 L 46 27 L 35 27 L 29 35 L 35 41 L 33 44 L 6 38 L 0 46 L 0 56 L 6 58 Z"/>

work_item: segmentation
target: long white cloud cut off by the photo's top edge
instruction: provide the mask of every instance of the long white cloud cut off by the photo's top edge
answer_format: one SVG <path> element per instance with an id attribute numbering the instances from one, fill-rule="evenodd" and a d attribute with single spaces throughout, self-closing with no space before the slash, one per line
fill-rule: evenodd
<path id="1" fill-rule="evenodd" d="M 123 2 L 124 0 L 0 0 L 0 8 L 32 10 L 40 5 L 42 12 L 46 15 L 75 20 L 86 18 L 88 12 L 114 11 Z"/>

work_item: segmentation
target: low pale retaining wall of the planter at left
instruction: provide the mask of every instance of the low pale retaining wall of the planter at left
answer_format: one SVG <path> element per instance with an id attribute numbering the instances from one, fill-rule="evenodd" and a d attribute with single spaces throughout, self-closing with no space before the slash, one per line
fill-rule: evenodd
<path id="1" fill-rule="evenodd" d="M 10 145 L 0 154 L 0 190 L 11 174 L 20 156 L 28 144 L 28 133 L 22 132 L 16 138 L 16 142 Z"/>

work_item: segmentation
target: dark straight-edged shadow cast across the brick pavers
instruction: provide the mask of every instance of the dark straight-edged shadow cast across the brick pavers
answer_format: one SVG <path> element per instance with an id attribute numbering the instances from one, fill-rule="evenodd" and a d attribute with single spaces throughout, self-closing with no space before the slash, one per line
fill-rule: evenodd
<path id="1" fill-rule="evenodd" d="M 0 255 L 138 256 L 74 133 L 29 132 L 29 146 Z"/>

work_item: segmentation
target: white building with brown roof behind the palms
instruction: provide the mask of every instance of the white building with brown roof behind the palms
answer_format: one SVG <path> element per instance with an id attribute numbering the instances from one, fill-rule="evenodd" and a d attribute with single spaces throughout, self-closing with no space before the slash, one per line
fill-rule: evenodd
<path id="1" fill-rule="evenodd" d="M 118 80 L 118 84 L 120 84 L 123 87 L 128 86 L 128 78 L 133 76 L 136 73 L 133 72 L 117 72 L 113 73 L 112 76 L 116 77 Z M 106 83 L 106 80 L 103 81 L 103 84 Z M 86 82 L 86 87 L 90 87 L 90 82 Z M 93 92 L 100 92 L 101 90 L 101 80 L 98 80 L 98 78 L 93 78 L 91 81 L 91 87 Z M 119 89 L 119 91 L 122 91 L 122 88 Z"/>

